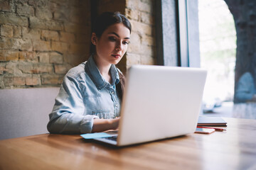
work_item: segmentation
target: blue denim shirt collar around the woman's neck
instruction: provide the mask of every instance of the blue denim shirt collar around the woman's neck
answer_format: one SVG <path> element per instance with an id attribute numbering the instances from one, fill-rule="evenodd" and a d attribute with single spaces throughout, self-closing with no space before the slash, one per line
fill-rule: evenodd
<path id="1" fill-rule="evenodd" d="M 92 55 L 85 64 L 85 72 L 87 72 L 87 74 L 90 76 L 98 90 L 104 89 L 109 84 L 100 74 L 100 70 L 97 68 Z M 114 84 L 118 84 L 119 74 L 114 64 L 112 64 L 110 67 L 110 74 L 113 80 L 112 86 L 114 86 Z"/>

